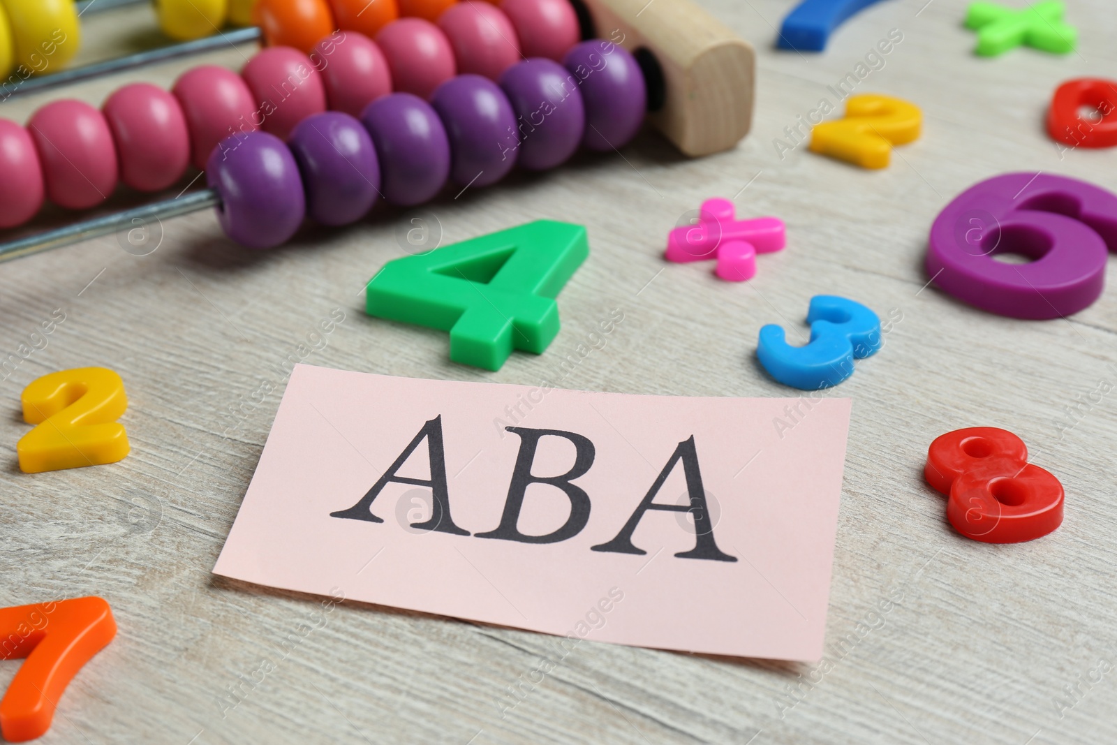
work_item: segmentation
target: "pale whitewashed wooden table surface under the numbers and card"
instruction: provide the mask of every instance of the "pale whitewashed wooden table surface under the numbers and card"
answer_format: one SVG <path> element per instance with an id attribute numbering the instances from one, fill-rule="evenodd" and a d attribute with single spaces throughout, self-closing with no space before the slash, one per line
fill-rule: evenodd
<path id="1" fill-rule="evenodd" d="M 980 180 L 1034 170 L 1117 189 L 1117 150 L 1060 153 L 1042 126 L 1060 82 L 1115 76 L 1111 4 L 1068 3 L 1080 32 L 1073 54 L 982 59 L 961 26 L 964 0 L 881 2 L 847 22 L 824 54 L 802 55 L 772 48 L 790 0 L 700 1 L 757 50 L 753 131 L 733 152 L 686 160 L 648 131 L 622 154 L 579 155 L 460 198 L 448 190 L 414 212 L 379 209 L 268 252 L 232 245 L 203 212 L 165 221 L 146 256 L 109 236 L 0 268 L 0 357 L 19 361 L 0 375 L 0 605 L 101 595 L 120 624 L 69 686 L 42 743 L 1117 741 L 1117 392 L 1073 427 L 1063 412 L 1101 381 L 1117 385 L 1117 290 L 1071 318 L 1022 322 L 963 305 L 927 286 L 924 270 L 932 220 Z M 85 29 L 82 61 L 159 40 L 146 7 L 90 17 Z M 774 140 L 784 127 L 820 98 L 833 102 L 827 86 L 891 29 L 903 40 L 857 92 L 916 103 L 923 136 L 884 171 L 805 146 L 781 157 Z M 239 66 L 251 51 L 208 60 Z M 65 95 L 99 105 L 128 79 L 169 86 L 200 61 Z M 22 122 L 60 95 L 12 99 L 0 113 Z M 661 258 L 668 230 L 713 195 L 787 223 L 786 250 L 760 257 L 750 283 Z M 136 201 L 118 193 L 109 207 Z M 445 333 L 365 316 L 363 284 L 403 255 L 412 217 L 436 226 L 442 243 L 537 218 L 588 226 L 591 256 L 560 296 L 562 333 L 551 348 L 516 353 L 488 373 L 450 364 Z M 66 219 L 56 212 L 38 225 Z M 1110 285 L 1115 268 L 1110 257 Z M 306 362 L 537 384 L 621 308 L 605 346 L 562 386 L 783 397 L 795 392 L 755 361 L 757 329 L 780 323 L 794 338 L 819 293 L 901 318 L 885 348 L 832 392 L 853 399 L 853 418 L 822 667 L 586 642 L 538 680 L 541 660 L 562 656 L 556 638 L 349 602 L 322 620 L 317 598 L 210 574 L 279 402 L 276 367 L 335 308 L 344 323 Z M 65 321 L 20 357 L 52 314 Z M 23 386 L 87 365 L 124 378 L 132 453 L 111 466 L 21 474 Z M 265 382 L 275 391 L 251 402 Z M 245 413 L 233 419 L 237 408 Z M 1059 477 L 1061 528 L 997 546 L 949 527 L 922 468 L 935 437 L 970 426 L 1018 433 Z M 242 684 L 264 658 L 276 669 Z M 0 687 L 17 669 L 0 665 Z M 230 706 L 235 686 L 247 693 Z"/>

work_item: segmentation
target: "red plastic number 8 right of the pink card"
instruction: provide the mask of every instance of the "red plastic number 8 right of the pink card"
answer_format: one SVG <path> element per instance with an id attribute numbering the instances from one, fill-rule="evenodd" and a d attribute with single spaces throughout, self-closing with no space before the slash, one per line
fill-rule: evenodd
<path id="1" fill-rule="evenodd" d="M 1028 462 L 1028 446 L 1008 430 L 947 432 L 927 450 L 927 483 L 947 495 L 958 533 L 983 543 L 1033 541 L 1062 524 L 1062 484 Z"/>

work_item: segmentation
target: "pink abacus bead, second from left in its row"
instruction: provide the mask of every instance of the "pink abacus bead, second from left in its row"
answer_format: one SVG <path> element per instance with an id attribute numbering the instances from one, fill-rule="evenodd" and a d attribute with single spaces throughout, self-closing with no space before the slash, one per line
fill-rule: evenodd
<path id="1" fill-rule="evenodd" d="M 88 209 L 116 189 L 116 147 L 96 108 L 82 101 L 55 101 L 35 112 L 27 128 L 55 204 Z"/>

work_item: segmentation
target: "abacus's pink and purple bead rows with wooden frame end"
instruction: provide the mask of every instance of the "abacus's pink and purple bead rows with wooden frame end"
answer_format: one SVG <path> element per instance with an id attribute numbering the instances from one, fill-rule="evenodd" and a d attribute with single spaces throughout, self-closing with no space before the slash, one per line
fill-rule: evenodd
<path id="1" fill-rule="evenodd" d="M 57 101 L 27 128 L 0 120 L 2 228 L 28 221 L 45 197 L 88 209 L 118 180 L 164 189 L 191 162 L 209 187 L 0 245 L 0 258 L 210 206 L 230 238 L 269 248 L 307 216 L 345 225 L 378 198 L 411 207 L 448 181 L 484 187 L 516 164 L 555 168 L 580 145 L 619 149 L 648 113 L 690 155 L 732 147 L 747 133 L 753 50 L 689 0 L 659 0 L 643 12 L 638 1 L 596 0 L 582 23 L 566 0 L 505 7 L 513 3 L 526 10 L 443 2 L 440 26 L 402 18 L 375 41 L 335 31 L 311 55 L 266 48 L 239 76 L 202 66 L 171 93 L 132 84 L 102 111 Z M 541 10 L 547 6 L 565 13 Z M 489 32 L 502 25 L 512 32 Z M 579 41 L 586 26 L 611 29 L 611 38 Z"/>

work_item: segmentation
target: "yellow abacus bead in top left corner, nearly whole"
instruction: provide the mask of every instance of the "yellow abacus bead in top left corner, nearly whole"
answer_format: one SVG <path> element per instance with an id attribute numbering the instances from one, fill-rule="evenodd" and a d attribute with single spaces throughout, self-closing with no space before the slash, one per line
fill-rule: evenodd
<path id="1" fill-rule="evenodd" d="M 16 64 L 35 73 L 64 67 L 82 41 L 74 0 L 3 0 Z"/>

